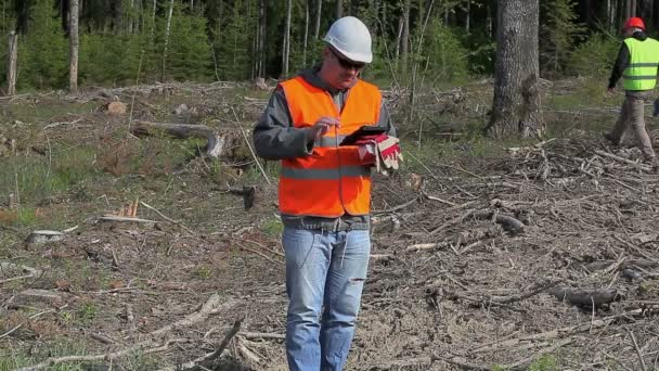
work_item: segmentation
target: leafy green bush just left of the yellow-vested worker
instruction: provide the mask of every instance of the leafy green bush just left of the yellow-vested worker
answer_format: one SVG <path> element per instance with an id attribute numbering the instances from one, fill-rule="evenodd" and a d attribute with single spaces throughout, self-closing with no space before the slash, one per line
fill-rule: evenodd
<path id="1" fill-rule="evenodd" d="M 570 54 L 569 69 L 580 76 L 603 78 L 610 73 L 619 49 L 619 40 L 604 34 L 592 35 Z"/>

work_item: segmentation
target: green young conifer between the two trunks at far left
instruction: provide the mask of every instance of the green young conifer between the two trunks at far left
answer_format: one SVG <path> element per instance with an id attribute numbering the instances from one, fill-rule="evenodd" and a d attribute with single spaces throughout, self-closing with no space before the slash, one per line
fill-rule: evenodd
<path id="1" fill-rule="evenodd" d="M 60 20 L 49 0 L 35 0 L 30 31 L 18 43 L 17 86 L 44 89 L 64 86 L 68 48 Z"/>

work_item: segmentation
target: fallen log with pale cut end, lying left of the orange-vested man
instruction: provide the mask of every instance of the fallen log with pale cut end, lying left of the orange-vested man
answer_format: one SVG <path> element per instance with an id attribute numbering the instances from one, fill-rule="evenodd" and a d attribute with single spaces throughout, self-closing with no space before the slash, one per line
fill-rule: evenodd
<path id="1" fill-rule="evenodd" d="M 207 157 L 218 158 L 224 152 L 229 142 L 231 142 L 231 133 L 217 133 L 206 125 L 191 124 L 164 124 L 135 120 L 132 121 L 130 132 L 135 137 L 153 137 L 157 135 L 167 135 L 177 139 L 202 138 L 206 139 L 207 143 L 204 148 L 204 154 Z"/>

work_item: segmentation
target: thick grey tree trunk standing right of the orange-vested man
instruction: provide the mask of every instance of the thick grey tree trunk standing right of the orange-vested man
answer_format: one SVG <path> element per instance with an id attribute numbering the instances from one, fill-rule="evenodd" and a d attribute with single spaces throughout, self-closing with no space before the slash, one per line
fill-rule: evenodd
<path id="1" fill-rule="evenodd" d="M 538 62 L 539 0 L 500 0 L 494 99 L 486 130 L 495 137 L 542 135 Z"/>

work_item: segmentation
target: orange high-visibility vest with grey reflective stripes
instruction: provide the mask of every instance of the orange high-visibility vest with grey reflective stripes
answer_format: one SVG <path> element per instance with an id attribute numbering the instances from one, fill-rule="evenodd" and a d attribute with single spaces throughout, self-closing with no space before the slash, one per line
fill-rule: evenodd
<path id="1" fill-rule="evenodd" d="M 313 126 L 323 116 L 340 125 L 316 140 L 309 156 L 282 161 L 280 210 L 285 215 L 339 217 L 371 212 L 371 168 L 361 164 L 358 146 L 338 144 L 363 125 L 376 125 L 379 90 L 358 80 L 347 92 L 341 112 L 330 93 L 301 76 L 281 84 L 296 128 Z"/>

